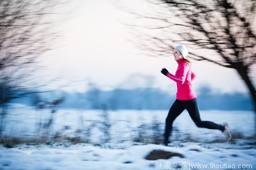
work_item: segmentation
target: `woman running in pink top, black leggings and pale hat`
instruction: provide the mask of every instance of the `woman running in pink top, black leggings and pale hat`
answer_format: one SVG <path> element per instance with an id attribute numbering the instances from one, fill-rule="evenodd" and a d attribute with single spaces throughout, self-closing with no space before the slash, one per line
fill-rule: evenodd
<path id="1" fill-rule="evenodd" d="M 230 141 L 231 134 L 227 123 L 220 125 L 211 121 L 201 121 L 200 113 L 197 104 L 196 94 L 192 90 L 192 80 L 196 77 L 196 73 L 191 70 L 191 61 L 187 59 L 188 49 L 185 45 L 178 45 L 174 49 L 174 59 L 178 63 L 178 68 L 175 75 L 168 72 L 166 68 L 162 69 L 163 73 L 168 78 L 172 79 L 177 84 L 176 100 L 172 104 L 166 118 L 166 128 L 164 133 L 164 145 L 168 145 L 169 136 L 172 130 L 172 123 L 185 109 L 197 127 L 218 129 L 224 132 L 227 140 Z"/>

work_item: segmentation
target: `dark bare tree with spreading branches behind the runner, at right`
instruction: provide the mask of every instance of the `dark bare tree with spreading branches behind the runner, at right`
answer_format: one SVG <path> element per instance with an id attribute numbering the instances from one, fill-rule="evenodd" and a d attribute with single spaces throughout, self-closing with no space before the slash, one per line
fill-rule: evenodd
<path id="1" fill-rule="evenodd" d="M 157 12 L 133 12 L 134 23 L 125 23 L 140 39 L 138 43 L 150 56 L 170 55 L 175 43 L 194 51 L 190 57 L 236 69 L 246 83 L 256 111 L 256 89 L 250 71 L 256 63 L 256 1 L 254 0 L 148 0 Z M 141 22 L 140 22 L 141 21 Z M 198 55 L 198 50 L 214 55 Z"/>

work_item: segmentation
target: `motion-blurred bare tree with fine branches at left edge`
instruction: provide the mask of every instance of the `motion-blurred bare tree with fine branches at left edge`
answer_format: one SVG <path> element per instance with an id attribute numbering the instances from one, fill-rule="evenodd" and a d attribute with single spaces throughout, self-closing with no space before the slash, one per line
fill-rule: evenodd
<path id="1" fill-rule="evenodd" d="M 61 9 L 66 3 L 58 0 L 0 1 L 0 135 L 8 103 L 26 95 L 25 89 L 37 87 L 28 83 L 28 77 L 39 69 L 35 64 L 38 57 L 54 48 L 52 42 L 58 34 L 53 28 L 60 22 Z"/>

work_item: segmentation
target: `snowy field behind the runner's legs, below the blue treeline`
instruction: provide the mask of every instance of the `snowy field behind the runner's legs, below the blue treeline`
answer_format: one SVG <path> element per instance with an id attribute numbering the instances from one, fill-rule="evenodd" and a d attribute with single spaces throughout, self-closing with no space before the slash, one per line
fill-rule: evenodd
<path id="1" fill-rule="evenodd" d="M 36 111 L 32 107 L 20 107 L 11 109 L 8 116 L 8 124 L 6 125 L 5 134 L 7 136 L 38 136 L 36 125 L 39 118 L 44 119 L 50 117 L 49 110 Z M 51 133 L 60 132 L 62 135 L 74 137 L 76 130 L 83 130 L 90 127 L 93 123 L 102 123 L 103 116 L 101 110 L 77 110 L 77 109 L 60 109 L 54 114 L 54 123 Z M 112 136 L 110 142 L 119 143 L 120 140 L 128 141 L 134 135 L 140 125 L 151 126 L 155 122 L 160 123 L 160 128 L 165 126 L 165 119 L 168 110 L 118 110 L 107 111 L 111 127 L 109 132 Z M 200 111 L 202 120 L 213 121 L 215 123 L 228 122 L 230 130 L 234 133 L 242 134 L 243 137 L 253 136 L 255 134 L 255 115 L 253 111 Z M 69 127 L 63 130 L 64 127 Z M 219 130 L 211 130 L 206 128 L 198 128 L 191 120 L 187 111 L 184 111 L 173 123 L 176 128 L 172 132 L 172 137 L 176 140 L 189 138 L 192 140 L 204 140 L 211 142 L 213 139 L 225 140 L 223 134 Z M 149 128 L 149 127 L 146 127 Z M 174 128 L 174 129 L 175 129 Z M 149 130 L 149 129 L 147 129 Z M 151 133 L 152 131 L 150 131 Z M 181 133 L 182 132 L 182 133 Z M 92 128 L 91 142 L 100 142 L 99 136 L 102 131 L 98 128 Z M 83 136 L 82 136 L 83 137 Z M 130 141 L 129 141 L 130 142 Z"/>

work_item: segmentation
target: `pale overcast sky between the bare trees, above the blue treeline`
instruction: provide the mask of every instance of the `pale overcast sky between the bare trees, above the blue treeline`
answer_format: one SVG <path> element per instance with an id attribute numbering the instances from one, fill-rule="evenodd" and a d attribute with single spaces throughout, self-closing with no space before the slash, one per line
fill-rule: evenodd
<path id="1" fill-rule="evenodd" d="M 73 3 L 78 2 L 81 1 Z M 136 4 L 136 8 L 144 8 L 141 1 L 129 2 Z M 87 83 L 93 82 L 103 90 L 157 87 L 176 93 L 176 83 L 160 73 L 166 67 L 175 74 L 178 65 L 173 55 L 149 57 L 138 54 L 141 51 L 136 44 L 127 40 L 132 37 L 128 28 L 120 23 L 120 20 L 132 20 L 131 16 L 118 10 L 109 0 L 86 0 L 74 9 L 74 16 L 56 28 L 61 30 L 60 48 L 42 58 L 46 70 L 40 81 L 63 77 L 62 81 L 52 83 L 48 88 L 83 80 L 64 90 L 86 91 Z M 202 86 L 213 88 L 217 93 L 248 91 L 234 69 L 192 60 L 192 70 L 197 74 L 193 81 L 195 92 Z M 256 73 L 255 69 L 253 73 Z M 255 83 L 255 76 L 252 79 Z"/>

